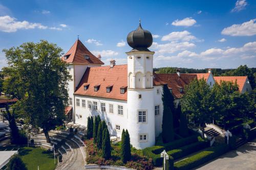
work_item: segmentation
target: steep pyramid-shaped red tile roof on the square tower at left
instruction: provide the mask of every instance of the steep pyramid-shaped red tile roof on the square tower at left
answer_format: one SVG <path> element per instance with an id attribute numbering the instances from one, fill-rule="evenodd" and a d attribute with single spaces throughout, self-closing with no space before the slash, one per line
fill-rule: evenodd
<path id="1" fill-rule="evenodd" d="M 84 58 L 84 56 L 89 56 L 89 59 Z M 65 60 L 65 56 L 67 59 Z M 83 64 L 98 64 L 103 65 L 104 63 L 95 57 L 86 46 L 78 39 L 70 50 L 61 57 L 61 60 L 66 61 L 67 63 L 83 63 Z"/>

